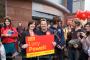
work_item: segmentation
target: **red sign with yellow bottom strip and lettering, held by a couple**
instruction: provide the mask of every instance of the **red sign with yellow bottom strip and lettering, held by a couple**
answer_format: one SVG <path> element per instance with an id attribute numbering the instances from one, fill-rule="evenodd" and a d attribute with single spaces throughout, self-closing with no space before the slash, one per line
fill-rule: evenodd
<path id="1" fill-rule="evenodd" d="M 29 45 L 29 47 L 26 49 L 27 58 L 53 54 L 53 41 L 54 35 L 26 37 L 26 43 Z"/>

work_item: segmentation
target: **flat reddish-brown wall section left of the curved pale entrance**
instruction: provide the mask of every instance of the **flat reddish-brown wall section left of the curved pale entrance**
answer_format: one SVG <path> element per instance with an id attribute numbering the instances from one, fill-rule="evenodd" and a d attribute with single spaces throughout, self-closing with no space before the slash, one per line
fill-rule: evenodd
<path id="1" fill-rule="evenodd" d="M 19 22 L 27 26 L 28 21 L 32 20 L 32 1 L 7 0 L 6 16 L 12 19 L 14 26 L 17 26 Z"/>

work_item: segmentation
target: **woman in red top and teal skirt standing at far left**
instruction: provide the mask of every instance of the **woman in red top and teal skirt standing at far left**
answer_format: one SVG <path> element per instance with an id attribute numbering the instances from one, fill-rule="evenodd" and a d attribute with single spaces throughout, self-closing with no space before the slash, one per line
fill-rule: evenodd
<path id="1" fill-rule="evenodd" d="M 15 27 L 12 27 L 11 20 L 5 18 L 4 27 L 1 28 L 2 44 L 6 52 L 6 60 L 12 60 L 16 53 L 15 42 L 18 37 L 18 32 Z"/>

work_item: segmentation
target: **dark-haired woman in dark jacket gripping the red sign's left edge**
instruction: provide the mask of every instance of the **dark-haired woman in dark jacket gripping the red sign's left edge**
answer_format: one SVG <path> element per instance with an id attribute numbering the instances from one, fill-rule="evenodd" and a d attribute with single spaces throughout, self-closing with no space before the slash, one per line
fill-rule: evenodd
<path id="1" fill-rule="evenodd" d="M 26 44 L 26 41 L 25 41 L 27 36 L 35 36 L 35 21 L 30 21 L 28 23 L 27 31 L 24 31 L 22 33 L 20 46 L 21 46 L 22 60 L 37 60 L 36 57 L 33 57 L 33 58 L 27 58 L 26 57 L 26 48 L 29 47 L 29 45 Z"/>

